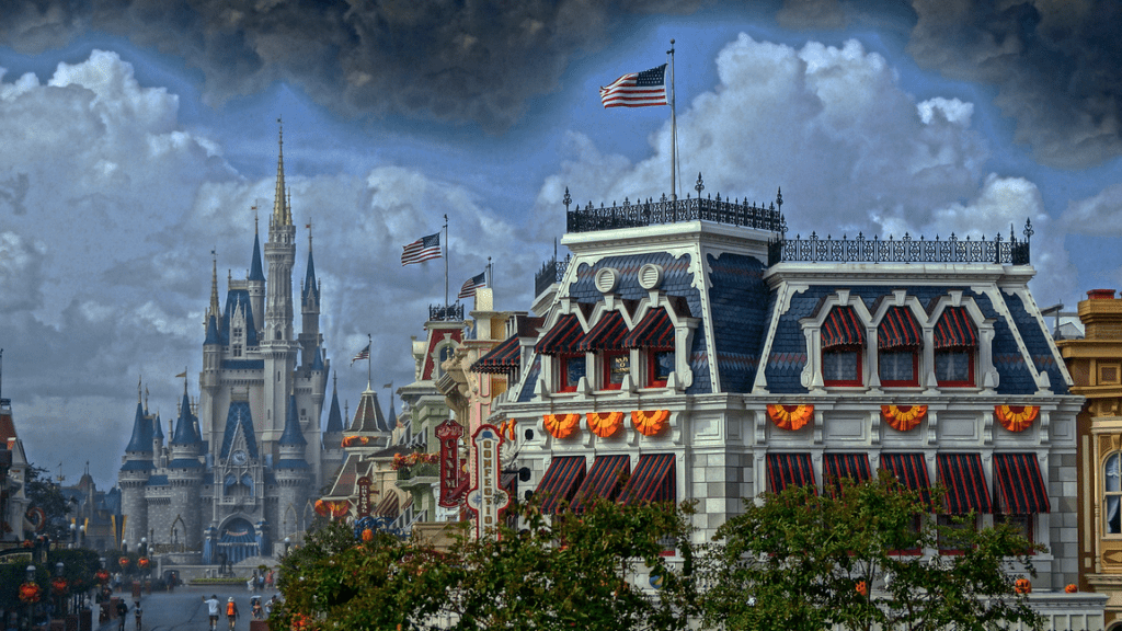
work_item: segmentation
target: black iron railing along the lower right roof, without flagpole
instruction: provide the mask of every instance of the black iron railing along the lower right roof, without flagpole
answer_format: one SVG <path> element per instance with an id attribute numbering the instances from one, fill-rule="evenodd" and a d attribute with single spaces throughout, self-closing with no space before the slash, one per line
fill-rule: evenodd
<path id="1" fill-rule="evenodd" d="M 793 239 L 779 238 L 767 244 L 767 265 L 776 263 L 995 263 L 997 265 L 1028 265 L 1030 262 L 1029 240 L 1032 237 L 1032 222 L 1026 221 L 1022 234 L 1024 239 L 1018 239 L 1012 228 L 1009 238 L 1003 239 L 997 234 L 991 240 L 959 239 L 954 234 L 948 239 L 932 240 L 920 237 L 912 238 L 904 234 L 902 239 L 889 237 L 825 239 L 811 232 L 807 239 L 795 236 Z"/>

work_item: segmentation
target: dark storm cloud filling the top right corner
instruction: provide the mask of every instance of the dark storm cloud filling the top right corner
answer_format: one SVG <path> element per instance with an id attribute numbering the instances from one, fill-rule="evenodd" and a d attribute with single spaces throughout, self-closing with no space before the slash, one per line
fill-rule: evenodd
<path id="1" fill-rule="evenodd" d="M 1078 168 L 1122 153 L 1122 3 L 914 0 L 909 52 L 947 76 L 997 86 L 1015 139 Z"/>

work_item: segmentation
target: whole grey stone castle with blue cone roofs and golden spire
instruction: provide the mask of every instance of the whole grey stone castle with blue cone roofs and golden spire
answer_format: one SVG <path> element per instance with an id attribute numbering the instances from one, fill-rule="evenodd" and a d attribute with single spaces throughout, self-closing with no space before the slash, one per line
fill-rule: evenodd
<path id="1" fill-rule="evenodd" d="M 293 330 L 295 238 L 282 135 L 264 247 L 267 267 L 255 226 L 249 273 L 243 281 L 229 280 L 220 310 L 213 264 L 199 402 L 192 405 L 184 373 L 166 445 L 159 415 L 138 395 L 119 475 L 126 546 L 201 552 L 203 564 L 233 564 L 272 555 L 314 518 L 310 499 L 342 458 L 342 419 L 333 401 L 328 427 L 320 428 L 330 362 L 320 335 L 311 232 L 300 292 L 302 330 L 298 336 Z"/>

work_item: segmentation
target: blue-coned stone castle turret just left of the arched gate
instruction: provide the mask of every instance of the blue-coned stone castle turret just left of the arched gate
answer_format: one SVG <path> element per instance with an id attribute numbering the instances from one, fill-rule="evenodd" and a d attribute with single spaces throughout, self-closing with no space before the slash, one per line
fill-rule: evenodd
<path id="1" fill-rule="evenodd" d="M 183 401 L 175 431 L 168 441 L 167 482 L 171 487 L 171 514 L 165 515 L 167 532 L 158 541 L 181 543 L 187 550 L 202 546 L 202 485 L 205 468 L 202 463 L 202 438 L 195 433 L 195 418 L 187 399 L 187 379 L 183 379 Z"/>

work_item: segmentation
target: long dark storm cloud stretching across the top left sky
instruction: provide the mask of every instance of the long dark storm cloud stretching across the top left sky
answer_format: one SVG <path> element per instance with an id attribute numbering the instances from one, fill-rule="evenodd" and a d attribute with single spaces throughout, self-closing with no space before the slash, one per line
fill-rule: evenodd
<path id="1" fill-rule="evenodd" d="M 627 15 L 700 2 L 37 0 L 6 11 L 0 43 L 35 53 L 100 30 L 184 57 L 202 71 L 210 102 L 285 81 L 349 116 L 398 112 L 500 131 Z"/>

